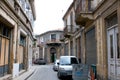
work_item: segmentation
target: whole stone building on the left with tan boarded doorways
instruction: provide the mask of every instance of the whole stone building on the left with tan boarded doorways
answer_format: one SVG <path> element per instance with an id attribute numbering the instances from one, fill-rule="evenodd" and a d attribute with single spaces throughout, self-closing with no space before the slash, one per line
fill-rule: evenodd
<path id="1" fill-rule="evenodd" d="M 0 0 L 0 77 L 32 65 L 34 0 Z"/>

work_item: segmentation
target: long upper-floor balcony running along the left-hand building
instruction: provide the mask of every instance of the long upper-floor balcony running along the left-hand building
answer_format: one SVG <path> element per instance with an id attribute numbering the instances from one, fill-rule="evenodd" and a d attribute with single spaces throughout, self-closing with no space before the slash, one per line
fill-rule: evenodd
<path id="1" fill-rule="evenodd" d="M 14 15 L 23 23 L 23 25 L 25 25 L 25 27 L 28 30 L 30 30 L 30 32 L 33 31 L 32 23 L 28 19 L 27 15 L 25 13 L 25 9 L 23 9 L 21 7 L 18 0 L 1 0 L 0 3 L 1 3 L 0 6 L 4 6 L 4 3 L 5 3 L 6 6 L 9 8 L 9 10 L 11 10 L 14 13 Z M 7 9 L 5 9 L 5 10 L 7 11 Z M 10 14 L 12 15 L 12 13 L 10 13 Z"/>

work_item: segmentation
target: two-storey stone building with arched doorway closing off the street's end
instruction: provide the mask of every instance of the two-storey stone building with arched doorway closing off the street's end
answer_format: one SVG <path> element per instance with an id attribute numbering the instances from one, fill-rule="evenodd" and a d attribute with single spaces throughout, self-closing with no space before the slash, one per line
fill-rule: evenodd
<path id="1" fill-rule="evenodd" d="M 53 63 L 63 54 L 63 43 L 60 41 L 63 31 L 52 30 L 36 35 L 37 48 L 34 54 L 36 58 L 43 58 L 47 63 Z"/>

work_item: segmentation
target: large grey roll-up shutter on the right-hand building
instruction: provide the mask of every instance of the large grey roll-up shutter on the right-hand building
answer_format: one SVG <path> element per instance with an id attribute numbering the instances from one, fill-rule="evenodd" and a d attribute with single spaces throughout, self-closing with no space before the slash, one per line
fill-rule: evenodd
<path id="1" fill-rule="evenodd" d="M 86 32 L 86 64 L 96 64 L 96 40 L 95 40 L 95 28 Z"/>

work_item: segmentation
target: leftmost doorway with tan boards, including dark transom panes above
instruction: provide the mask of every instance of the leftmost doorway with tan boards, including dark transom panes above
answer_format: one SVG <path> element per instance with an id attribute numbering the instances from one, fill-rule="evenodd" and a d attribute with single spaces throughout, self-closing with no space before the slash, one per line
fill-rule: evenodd
<path id="1" fill-rule="evenodd" d="M 0 77 L 8 74 L 10 66 L 11 29 L 0 23 Z"/>

